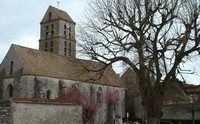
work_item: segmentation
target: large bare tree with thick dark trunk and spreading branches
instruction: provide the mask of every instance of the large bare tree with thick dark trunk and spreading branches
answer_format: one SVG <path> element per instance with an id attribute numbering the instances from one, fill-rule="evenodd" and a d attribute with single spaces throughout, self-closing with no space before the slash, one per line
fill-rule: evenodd
<path id="1" fill-rule="evenodd" d="M 198 0 L 92 0 L 78 38 L 91 59 L 135 71 L 148 123 L 159 123 L 164 87 L 200 53 L 199 17 Z"/>

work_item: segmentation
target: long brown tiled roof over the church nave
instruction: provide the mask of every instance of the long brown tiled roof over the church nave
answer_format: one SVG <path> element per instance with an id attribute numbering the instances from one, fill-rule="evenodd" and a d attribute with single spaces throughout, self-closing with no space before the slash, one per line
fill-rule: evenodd
<path id="1" fill-rule="evenodd" d="M 88 71 L 88 69 L 95 70 L 101 68 L 103 65 L 98 62 L 69 58 L 18 45 L 12 45 L 11 48 L 14 49 L 23 65 L 24 74 L 92 82 L 117 87 L 123 87 L 124 85 L 123 81 L 111 67 L 105 70 L 100 79 L 97 79 L 100 76 L 99 72 Z"/>

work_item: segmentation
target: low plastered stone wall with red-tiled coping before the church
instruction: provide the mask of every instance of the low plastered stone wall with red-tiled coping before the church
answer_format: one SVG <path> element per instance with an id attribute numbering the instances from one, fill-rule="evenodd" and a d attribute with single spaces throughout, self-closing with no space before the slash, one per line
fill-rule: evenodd
<path id="1" fill-rule="evenodd" d="M 53 100 L 16 100 L 11 124 L 81 124 L 82 107 Z"/>

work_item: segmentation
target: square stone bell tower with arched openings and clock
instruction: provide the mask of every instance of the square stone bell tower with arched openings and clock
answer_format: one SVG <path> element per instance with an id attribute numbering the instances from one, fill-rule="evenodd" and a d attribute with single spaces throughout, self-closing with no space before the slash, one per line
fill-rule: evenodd
<path id="1" fill-rule="evenodd" d="M 75 25 L 67 12 L 49 6 L 40 23 L 39 50 L 75 58 Z"/>

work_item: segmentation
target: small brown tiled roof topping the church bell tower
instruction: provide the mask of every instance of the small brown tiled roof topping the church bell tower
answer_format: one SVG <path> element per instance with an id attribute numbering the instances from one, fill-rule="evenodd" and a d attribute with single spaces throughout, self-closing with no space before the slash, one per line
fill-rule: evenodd
<path id="1" fill-rule="evenodd" d="M 67 12 L 63 11 L 63 10 L 60 10 L 60 9 L 53 7 L 53 6 L 49 6 L 49 8 L 47 9 L 47 12 L 55 13 L 57 15 L 56 19 L 66 20 L 66 21 L 69 21 L 69 22 L 75 24 L 75 22 L 72 20 L 72 18 L 69 16 L 69 14 Z M 44 17 L 47 15 L 47 12 L 44 15 Z M 45 20 L 44 17 L 43 17 L 41 23 L 44 22 L 44 20 Z"/>

